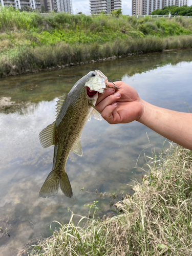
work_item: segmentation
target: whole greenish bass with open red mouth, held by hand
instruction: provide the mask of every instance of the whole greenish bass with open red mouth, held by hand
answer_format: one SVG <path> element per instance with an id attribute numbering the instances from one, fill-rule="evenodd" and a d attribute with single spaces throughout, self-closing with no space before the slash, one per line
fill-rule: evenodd
<path id="1" fill-rule="evenodd" d="M 105 88 L 108 88 L 108 78 L 95 70 L 79 79 L 67 96 L 58 98 L 55 121 L 39 133 L 43 147 L 54 145 L 53 167 L 40 188 L 39 197 L 52 197 L 58 193 L 59 187 L 65 196 L 73 196 L 66 163 L 71 151 L 82 156 L 80 137 L 91 116 L 102 120 L 95 103 L 98 93 L 103 94 Z"/>

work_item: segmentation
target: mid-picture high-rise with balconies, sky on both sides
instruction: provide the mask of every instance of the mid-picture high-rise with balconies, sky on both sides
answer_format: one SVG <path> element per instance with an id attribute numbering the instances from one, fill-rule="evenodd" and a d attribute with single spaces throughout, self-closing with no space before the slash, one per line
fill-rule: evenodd
<path id="1" fill-rule="evenodd" d="M 112 11 L 121 9 L 121 0 L 90 0 L 91 14 L 104 12 L 110 14 Z"/>

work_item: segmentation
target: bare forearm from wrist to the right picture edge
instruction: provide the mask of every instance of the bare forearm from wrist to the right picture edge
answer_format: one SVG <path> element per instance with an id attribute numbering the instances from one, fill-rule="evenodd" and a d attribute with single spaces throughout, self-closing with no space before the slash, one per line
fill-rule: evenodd
<path id="1" fill-rule="evenodd" d="M 139 122 L 165 138 L 192 151 L 192 114 L 159 108 L 141 100 L 143 112 Z"/>

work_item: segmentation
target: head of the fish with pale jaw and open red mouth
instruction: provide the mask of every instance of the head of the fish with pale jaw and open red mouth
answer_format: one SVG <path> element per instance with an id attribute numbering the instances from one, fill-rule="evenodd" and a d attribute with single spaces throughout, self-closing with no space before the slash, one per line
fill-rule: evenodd
<path id="1" fill-rule="evenodd" d="M 98 92 L 103 94 L 107 84 L 108 78 L 100 70 L 90 71 L 86 75 L 86 83 L 84 84 L 87 96 L 94 99 Z"/>

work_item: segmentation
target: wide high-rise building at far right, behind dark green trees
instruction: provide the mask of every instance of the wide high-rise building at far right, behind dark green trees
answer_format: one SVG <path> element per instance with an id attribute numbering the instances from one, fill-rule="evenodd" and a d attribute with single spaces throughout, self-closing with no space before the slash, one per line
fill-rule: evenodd
<path id="1" fill-rule="evenodd" d="M 132 0 L 132 15 L 150 15 L 165 6 L 188 5 L 188 0 Z"/>

